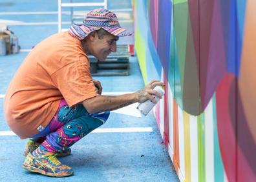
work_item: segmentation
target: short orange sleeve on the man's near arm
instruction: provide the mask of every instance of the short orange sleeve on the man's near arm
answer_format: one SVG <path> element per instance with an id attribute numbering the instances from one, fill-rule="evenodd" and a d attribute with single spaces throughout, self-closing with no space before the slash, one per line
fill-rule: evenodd
<path id="1" fill-rule="evenodd" d="M 88 58 L 80 56 L 74 60 L 51 75 L 52 82 L 69 106 L 98 96 L 90 74 Z"/>

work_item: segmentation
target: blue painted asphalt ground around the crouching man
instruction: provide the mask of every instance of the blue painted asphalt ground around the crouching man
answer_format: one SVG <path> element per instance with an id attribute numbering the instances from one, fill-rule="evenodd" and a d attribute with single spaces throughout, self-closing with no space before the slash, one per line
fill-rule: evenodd
<path id="1" fill-rule="evenodd" d="M 0 23 L 8 20 L 10 28 L 19 37 L 21 48 L 30 49 L 57 32 L 57 2 L 1 0 Z M 109 9 L 129 9 L 131 1 L 109 0 L 108 6 Z M 126 14 L 131 15 L 131 11 Z M 125 21 L 125 15 L 123 18 L 122 25 L 133 30 L 131 19 Z M 64 14 L 63 21 L 69 20 L 69 14 Z M 133 43 L 133 37 L 120 39 L 120 43 Z M 71 147 L 72 154 L 60 159 L 74 169 L 74 176 L 54 178 L 23 170 L 21 165 L 25 157 L 22 153 L 27 140 L 8 135 L 10 128 L 3 116 L 3 97 L 12 76 L 27 54 L 20 52 L 0 57 L 0 181 L 178 181 L 153 114 L 139 117 L 138 113 L 134 114 L 134 106 L 112 112 L 98 132 L 78 141 Z M 103 92 L 134 92 L 142 88 L 144 82 L 136 57 L 131 57 L 130 66 L 130 76 L 94 79 L 101 81 Z"/>

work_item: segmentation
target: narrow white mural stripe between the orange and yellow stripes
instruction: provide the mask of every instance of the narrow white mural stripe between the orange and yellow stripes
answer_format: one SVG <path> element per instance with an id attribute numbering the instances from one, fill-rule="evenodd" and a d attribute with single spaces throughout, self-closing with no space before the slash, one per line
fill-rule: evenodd
<path id="1" fill-rule="evenodd" d="M 178 106 L 178 143 L 180 145 L 180 172 L 185 179 L 185 150 L 184 150 L 184 119 L 183 111 Z"/>

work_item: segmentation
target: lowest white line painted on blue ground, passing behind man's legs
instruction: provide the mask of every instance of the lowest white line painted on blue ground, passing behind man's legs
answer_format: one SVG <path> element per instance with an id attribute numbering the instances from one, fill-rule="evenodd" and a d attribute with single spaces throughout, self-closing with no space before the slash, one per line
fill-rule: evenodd
<path id="1" fill-rule="evenodd" d="M 99 133 L 128 133 L 128 132 L 153 132 L 151 127 L 131 127 L 131 128 L 96 128 L 92 131 L 94 134 Z M 12 131 L 0 131 L 0 136 L 16 136 Z"/>

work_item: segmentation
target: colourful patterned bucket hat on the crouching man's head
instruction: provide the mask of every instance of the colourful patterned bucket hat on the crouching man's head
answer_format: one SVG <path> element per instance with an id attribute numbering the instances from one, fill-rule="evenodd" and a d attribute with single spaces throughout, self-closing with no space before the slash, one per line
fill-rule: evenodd
<path id="1" fill-rule="evenodd" d="M 81 40 L 94 30 L 99 30 L 100 28 L 118 37 L 131 35 L 131 32 L 128 32 L 119 25 L 116 14 L 106 9 L 92 10 L 83 20 L 83 24 L 71 25 L 69 32 Z"/>

